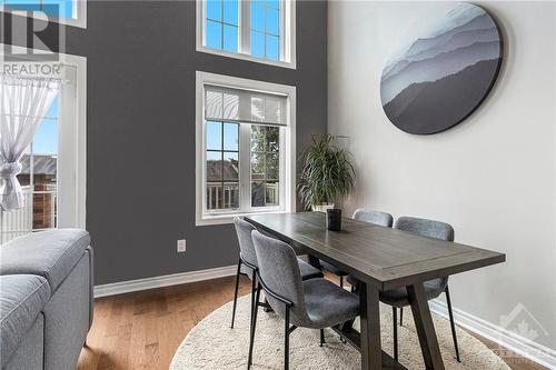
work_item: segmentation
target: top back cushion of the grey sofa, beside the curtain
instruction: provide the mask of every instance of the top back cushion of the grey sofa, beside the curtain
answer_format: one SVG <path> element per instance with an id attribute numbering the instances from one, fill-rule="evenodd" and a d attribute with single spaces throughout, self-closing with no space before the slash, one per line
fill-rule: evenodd
<path id="1" fill-rule="evenodd" d="M 90 243 L 89 233 L 58 229 L 29 233 L 2 246 L 0 274 L 30 273 L 48 280 L 52 293 Z"/>

